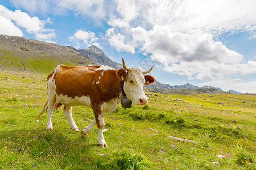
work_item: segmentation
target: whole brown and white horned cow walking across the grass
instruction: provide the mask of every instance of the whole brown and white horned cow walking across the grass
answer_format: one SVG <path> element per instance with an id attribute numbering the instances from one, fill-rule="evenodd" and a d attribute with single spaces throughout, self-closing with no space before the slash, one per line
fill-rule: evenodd
<path id="1" fill-rule="evenodd" d="M 108 66 L 64 66 L 59 65 L 47 77 L 48 99 L 44 103 L 38 118 L 46 111 L 48 105 L 48 122 L 46 129 L 52 130 L 52 113 L 54 108 L 64 105 L 64 114 L 73 131 L 79 131 L 73 118 L 72 106 L 85 105 L 94 112 L 93 122 L 82 130 L 82 137 L 90 131 L 95 124 L 98 127 L 98 145 L 107 147 L 104 136 L 103 114 L 113 111 L 120 103 L 123 94 L 134 104 L 147 104 L 148 98 L 144 94 L 143 86 L 155 82 L 151 75 L 143 75 L 152 70 L 143 71 L 138 67 L 112 69 Z M 123 82 L 123 83 L 122 83 Z"/>

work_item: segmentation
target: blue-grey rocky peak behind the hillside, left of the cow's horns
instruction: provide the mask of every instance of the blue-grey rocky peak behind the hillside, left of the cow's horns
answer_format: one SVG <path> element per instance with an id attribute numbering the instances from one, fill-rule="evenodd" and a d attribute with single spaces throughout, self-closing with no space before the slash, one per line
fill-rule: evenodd
<path id="1" fill-rule="evenodd" d="M 121 63 L 115 62 L 110 59 L 100 48 L 97 46 L 89 46 L 88 49 L 80 49 L 78 50 L 82 55 L 87 56 L 90 60 L 92 60 L 96 65 L 106 65 L 112 67 L 114 69 L 122 68 Z"/>

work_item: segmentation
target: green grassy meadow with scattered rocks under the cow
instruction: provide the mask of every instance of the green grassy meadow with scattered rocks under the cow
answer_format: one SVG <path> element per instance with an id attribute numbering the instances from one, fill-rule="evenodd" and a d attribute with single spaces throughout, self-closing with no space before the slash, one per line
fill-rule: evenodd
<path id="1" fill-rule="evenodd" d="M 148 105 L 104 115 L 108 148 L 100 148 L 97 126 L 81 137 L 94 118 L 88 107 L 73 107 L 78 133 L 63 106 L 52 131 L 47 113 L 34 118 L 47 99 L 46 77 L 0 72 L 1 169 L 256 169 L 256 96 L 148 92 Z"/>

